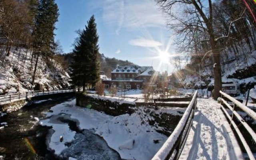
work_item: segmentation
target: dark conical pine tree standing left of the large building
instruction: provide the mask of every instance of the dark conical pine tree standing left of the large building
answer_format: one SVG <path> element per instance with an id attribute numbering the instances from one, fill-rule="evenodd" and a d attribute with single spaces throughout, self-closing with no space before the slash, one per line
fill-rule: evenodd
<path id="1" fill-rule="evenodd" d="M 79 33 L 79 39 L 74 48 L 73 82 L 76 86 L 95 86 L 100 79 L 100 60 L 97 28 L 94 15 L 87 26 Z"/>

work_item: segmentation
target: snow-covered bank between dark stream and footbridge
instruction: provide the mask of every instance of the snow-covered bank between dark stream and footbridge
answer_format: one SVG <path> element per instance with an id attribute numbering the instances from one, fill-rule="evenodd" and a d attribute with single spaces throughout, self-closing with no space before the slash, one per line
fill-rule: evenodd
<path id="1" fill-rule="evenodd" d="M 149 124 L 154 118 L 147 110 L 154 109 L 142 107 L 131 115 L 109 116 L 96 110 L 75 106 L 75 100 L 72 100 L 58 104 L 51 110 L 52 112 L 45 113 L 47 119 L 40 122 L 42 125 L 52 126 L 54 133 L 49 139 L 49 147 L 55 150 L 56 154 L 68 148 L 65 143 L 74 140 L 74 131 L 70 130 L 67 124 L 57 121 L 60 117 L 68 118 L 67 115 L 77 122 L 81 130 L 91 130 L 102 136 L 108 146 L 116 150 L 123 159 L 149 160 L 167 139 L 165 135 L 156 132 L 156 128 L 160 130 L 161 127 Z M 163 108 L 157 112 L 170 113 L 170 110 Z M 172 114 L 180 115 L 180 112 L 180 109 L 176 109 Z M 63 142 L 60 142 L 60 136 L 63 136 Z"/>

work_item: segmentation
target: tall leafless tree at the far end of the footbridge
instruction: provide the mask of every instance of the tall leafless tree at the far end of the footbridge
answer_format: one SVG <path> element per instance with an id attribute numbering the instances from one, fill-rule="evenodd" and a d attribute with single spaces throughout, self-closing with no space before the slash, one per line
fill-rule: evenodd
<path id="1" fill-rule="evenodd" d="M 221 79 L 221 63 L 220 63 L 220 48 L 218 42 L 224 38 L 230 37 L 230 28 L 233 23 L 242 19 L 239 18 L 230 23 L 228 34 L 218 36 L 216 27 L 214 26 L 214 11 L 212 0 L 207 0 L 202 3 L 201 0 L 155 0 L 162 10 L 170 18 L 168 27 L 174 30 L 177 34 L 176 43 L 183 52 L 194 53 L 195 48 L 200 47 L 204 51 L 205 56 L 212 54 L 213 71 L 214 71 L 214 99 L 220 96 L 222 87 Z M 175 8 L 183 8 L 181 11 L 176 11 Z M 203 54 L 198 52 L 197 54 Z M 204 59 L 202 60 L 204 61 Z"/>

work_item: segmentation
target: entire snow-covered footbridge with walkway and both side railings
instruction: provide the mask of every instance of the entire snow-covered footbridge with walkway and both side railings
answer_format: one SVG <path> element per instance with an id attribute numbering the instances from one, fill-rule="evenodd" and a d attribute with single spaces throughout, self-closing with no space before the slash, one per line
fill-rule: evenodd
<path id="1" fill-rule="evenodd" d="M 255 131 L 238 110 L 252 120 L 256 120 L 256 113 L 228 94 L 220 93 L 218 103 L 197 99 L 196 91 L 180 122 L 152 160 L 243 160 L 244 155 L 255 160 Z"/>

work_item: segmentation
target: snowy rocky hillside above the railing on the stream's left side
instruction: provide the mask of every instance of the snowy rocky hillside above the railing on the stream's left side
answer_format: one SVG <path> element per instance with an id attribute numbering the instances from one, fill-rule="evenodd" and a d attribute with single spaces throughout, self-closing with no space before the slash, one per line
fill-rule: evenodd
<path id="1" fill-rule="evenodd" d="M 0 51 L 0 94 L 26 92 L 28 90 L 56 90 L 70 87 L 68 73 L 53 58 L 39 59 L 35 83 L 32 85 L 34 60 L 31 50 L 13 47 L 6 56 Z"/>

